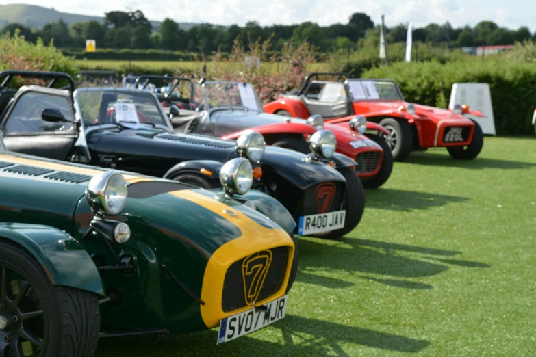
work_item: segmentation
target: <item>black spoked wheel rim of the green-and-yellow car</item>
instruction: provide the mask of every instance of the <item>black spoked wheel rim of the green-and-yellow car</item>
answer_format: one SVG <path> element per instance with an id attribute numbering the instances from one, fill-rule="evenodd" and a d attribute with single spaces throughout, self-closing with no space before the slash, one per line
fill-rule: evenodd
<path id="1" fill-rule="evenodd" d="M 44 306 L 23 269 L 0 261 L 0 357 L 44 356 L 49 333 Z"/>

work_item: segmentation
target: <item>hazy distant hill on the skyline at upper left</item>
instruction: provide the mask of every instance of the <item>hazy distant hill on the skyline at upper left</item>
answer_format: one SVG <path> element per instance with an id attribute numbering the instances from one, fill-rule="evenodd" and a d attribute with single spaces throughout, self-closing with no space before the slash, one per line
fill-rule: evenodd
<path id="1" fill-rule="evenodd" d="M 71 23 L 79 23 L 96 20 L 104 23 L 104 17 L 87 16 L 79 14 L 68 14 L 67 12 L 59 12 L 53 8 L 43 8 L 36 5 L 12 4 L 0 5 L 0 28 L 8 25 L 8 23 L 21 23 L 29 27 L 43 27 L 47 23 L 58 21 L 63 18 L 68 25 Z M 160 28 L 159 21 L 151 21 L 153 29 L 157 31 Z M 191 29 L 196 23 L 179 23 L 179 27 L 184 30 Z"/>

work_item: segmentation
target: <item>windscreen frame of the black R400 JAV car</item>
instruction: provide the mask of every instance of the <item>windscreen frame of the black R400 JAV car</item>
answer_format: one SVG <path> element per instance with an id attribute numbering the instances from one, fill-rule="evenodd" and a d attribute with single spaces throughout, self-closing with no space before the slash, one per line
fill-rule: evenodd
<path id="1" fill-rule="evenodd" d="M 143 126 L 140 126 L 140 127 L 132 127 L 131 129 L 148 129 L 148 128 L 151 128 L 151 127 L 155 127 L 155 128 L 159 128 L 159 129 L 166 129 L 166 131 L 173 131 L 173 126 L 171 125 L 170 123 L 170 120 L 168 118 L 168 116 L 166 116 L 166 114 L 164 113 L 164 109 L 162 108 L 162 105 L 160 104 L 160 101 L 158 101 L 158 98 L 157 96 L 155 96 L 155 94 L 153 92 L 149 92 L 149 91 L 146 91 L 146 90 L 138 90 L 138 89 L 130 89 L 130 88 L 114 88 L 114 87 L 90 87 L 90 88 L 78 88 L 77 90 L 75 90 L 75 92 L 73 93 L 73 104 L 75 105 L 75 114 L 77 116 L 77 119 L 81 122 L 81 126 L 84 128 L 84 129 L 88 129 L 88 128 L 92 128 L 92 127 L 102 127 L 102 126 L 110 126 L 110 124 L 112 124 L 114 127 L 117 127 L 117 126 L 123 126 L 121 123 L 123 124 L 134 124 L 134 123 L 131 123 L 129 121 L 121 121 L 121 122 L 100 122 L 100 123 L 95 123 L 95 124 L 92 124 L 92 125 L 87 125 L 86 123 L 84 123 L 84 118 L 82 117 L 82 111 L 81 111 L 81 107 L 80 107 L 80 97 L 79 97 L 79 94 L 83 93 L 83 92 L 102 92 L 101 93 L 101 96 L 103 94 L 105 94 L 106 92 L 110 93 L 110 92 L 113 92 L 115 94 L 136 94 L 138 96 L 148 96 L 148 98 L 151 98 L 151 101 L 153 101 L 155 107 L 157 108 L 157 112 L 158 114 L 160 115 L 160 117 L 162 118 L 162 123 L 152 123 L 152 122 L 149 122 L 149 123 L 144 123 L 144 122 L 140 122 L 139 124 L 154 124 L 149 126 L 149 125 L 143 125 Z M 138 124 L 138 123 L 136 123 Z"/>

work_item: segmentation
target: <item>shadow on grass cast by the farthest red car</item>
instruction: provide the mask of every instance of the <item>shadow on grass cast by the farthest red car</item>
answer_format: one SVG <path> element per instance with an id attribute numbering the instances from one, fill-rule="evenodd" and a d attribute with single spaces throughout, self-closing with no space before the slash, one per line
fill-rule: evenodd
<path id="1" fill-rule="evenodd" d="M 449 155 L 437 153 L 411 153 L 403 163 L 426 166 L 448 166 L 452 168 L 468 168 L 472 170 L 481 170 L 485 168 L 499 169 L 528 169 L 536 166 L 535 163 L 522 161 L 507 161 L 498 159 L 488 159 L 485 157 L 476 157 L 472 160 L 452 159 Z"/>

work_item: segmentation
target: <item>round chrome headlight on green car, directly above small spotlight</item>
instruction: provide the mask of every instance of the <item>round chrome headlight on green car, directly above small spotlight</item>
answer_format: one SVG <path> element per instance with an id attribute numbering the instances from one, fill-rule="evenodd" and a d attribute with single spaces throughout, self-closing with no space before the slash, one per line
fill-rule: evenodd
<path id="1" fill-rule="evenodd" d="M 86 200 L 95 215 L 118 215 L 127 203 L 127 183 L 112 170 L 94 176 L 86 187 Z"/>

